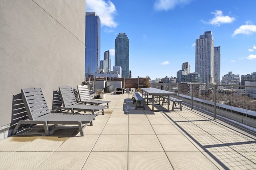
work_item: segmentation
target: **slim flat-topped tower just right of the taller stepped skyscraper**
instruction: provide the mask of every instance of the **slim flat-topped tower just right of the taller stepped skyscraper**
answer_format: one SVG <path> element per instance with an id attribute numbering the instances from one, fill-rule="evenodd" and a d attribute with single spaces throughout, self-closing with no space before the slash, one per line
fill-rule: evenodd
<path id="1" fill-rule="evenodd" d="M 214 47 L 214 83 L 220 84 L 220 46 Z"/>

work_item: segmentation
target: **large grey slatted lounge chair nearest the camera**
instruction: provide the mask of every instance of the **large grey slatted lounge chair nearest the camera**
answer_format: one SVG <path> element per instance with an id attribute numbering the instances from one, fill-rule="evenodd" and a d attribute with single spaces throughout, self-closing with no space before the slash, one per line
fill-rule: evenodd
<path id="1" fill-rule="evenodd" d="M 92 120 L 97 116 L 97 114 L 50 113 L 41 88 L 22 89 L 21 94 L 29 119 L 18 121 L 12 135 L 16 134 L 22 124 L 43 124 L 44 131 L 49 136 L 50 129 L 60 124 L 78 125 L 80 135 L 84 136 L 84 127 L 88 123 L 92 125 Z M 52 126 L 48 127 L 48 125 Z"/>

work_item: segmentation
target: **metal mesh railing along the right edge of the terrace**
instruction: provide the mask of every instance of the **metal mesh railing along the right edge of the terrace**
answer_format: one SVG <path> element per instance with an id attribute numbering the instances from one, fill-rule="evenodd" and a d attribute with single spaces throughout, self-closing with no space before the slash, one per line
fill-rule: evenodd
<path id="1" fill-rule="evenodd" d="M 256 86 L 151 83 L 151 87 L 176 92 L 192 110 L 199 110 L 256 133 Z M 162 87 L 161 87 L 162 86 Z"/>

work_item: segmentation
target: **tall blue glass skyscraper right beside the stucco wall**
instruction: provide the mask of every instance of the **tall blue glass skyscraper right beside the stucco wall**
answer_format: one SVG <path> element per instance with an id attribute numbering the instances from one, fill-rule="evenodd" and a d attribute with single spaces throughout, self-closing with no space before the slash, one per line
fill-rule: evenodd
<path id="1" fill-rule="evenodd" d="M 85 16 L 85 76 L 97 72 L 100 62 L 100 18 L 95 12 Z"/>

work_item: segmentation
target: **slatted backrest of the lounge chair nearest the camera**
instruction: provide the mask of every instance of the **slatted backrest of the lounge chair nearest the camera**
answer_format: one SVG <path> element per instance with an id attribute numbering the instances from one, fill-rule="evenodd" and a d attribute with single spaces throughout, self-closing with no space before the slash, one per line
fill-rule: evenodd
<path id="1" fill-rule="evenodd" d="M 50 114 L 41 88 L 21 89 L 21 95 L 30 120 Z"/>

